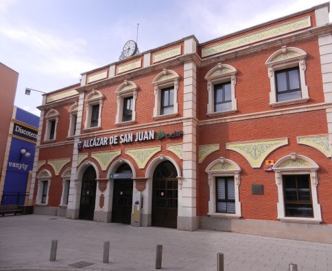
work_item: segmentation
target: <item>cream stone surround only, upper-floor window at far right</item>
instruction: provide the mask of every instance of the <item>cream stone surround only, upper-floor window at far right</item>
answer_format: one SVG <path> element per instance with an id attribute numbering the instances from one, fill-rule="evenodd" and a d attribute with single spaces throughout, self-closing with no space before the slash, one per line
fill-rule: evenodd
<path id="1" fill-rule="evenodd" d="M 305 83 L 305 70 L 307 68 L 307 65 L 305 63 L 306 57 L 307 53 L 302 49 L 285 46 L 281 47 L 280 50 L 270 55 L 268 60 L 265 62 L 265 65 L 268 66 L 268 77 L 270 77 L 270 106 L 274 107 L 279 105 L 290 105 L 294 103 L 304 103 L 309 101 L 309 91 Z M 302 97 L 300 99 L 278 102 L 276 99 L 276 71 L 295 67 L 298 67 L 300 73 L 299 79 Z"/>

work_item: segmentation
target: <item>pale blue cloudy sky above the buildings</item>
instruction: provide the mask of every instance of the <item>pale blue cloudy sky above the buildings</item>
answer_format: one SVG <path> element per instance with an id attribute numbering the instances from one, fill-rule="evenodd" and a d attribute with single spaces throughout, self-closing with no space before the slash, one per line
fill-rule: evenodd
<path id="1" fill-rule="evenodd" d="M 0 0 L 0 62 L 19 73 L 15 105 L 39 114 L 42 98 L 25 96 L 26 87 L 50 92 L 116 62 L 136 40 L 137 23 L 143 52 L 190 35 L 206 42 L 325 2 Z"/>

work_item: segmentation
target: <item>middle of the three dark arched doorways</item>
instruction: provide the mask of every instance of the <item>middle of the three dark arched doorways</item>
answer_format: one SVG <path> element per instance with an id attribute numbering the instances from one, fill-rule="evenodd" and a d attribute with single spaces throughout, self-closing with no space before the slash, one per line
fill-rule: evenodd
<path id="1" fill-rule="evenodd" d="M 132 169 L 122 164 L 117 169 L 114 179 L 112 222 L 130 224 L 132 216 Z"/>

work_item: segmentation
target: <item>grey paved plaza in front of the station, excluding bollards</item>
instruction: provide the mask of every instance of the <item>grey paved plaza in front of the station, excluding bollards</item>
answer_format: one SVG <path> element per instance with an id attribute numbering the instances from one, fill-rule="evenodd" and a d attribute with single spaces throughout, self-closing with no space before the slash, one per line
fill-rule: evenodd
<path id="1" fill-rule="evenodd" d="M 51 240 L 58 240 L 56 261 L 49 261 Z M 102 263 L 104 242 L 110 263 Z M 57 216 L 0 218 L 0 270 L 154 270 L 156 244 L 163 244 L 163 270 L 225 271 L 332 270 L 332 245 L 220 231 L 177 231 L 115 223 L 69 220 Z"/>

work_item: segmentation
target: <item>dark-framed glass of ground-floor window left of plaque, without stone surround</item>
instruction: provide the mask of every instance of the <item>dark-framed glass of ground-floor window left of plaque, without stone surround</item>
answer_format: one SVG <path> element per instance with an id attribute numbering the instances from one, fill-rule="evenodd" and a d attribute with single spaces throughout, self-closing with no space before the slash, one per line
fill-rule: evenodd
<path id="1" fill-rule="evenodd" d="M 235 214 L 234 177 L 216 177 L 215 186 L 217 213 Z"/>

